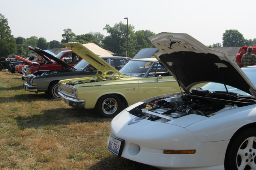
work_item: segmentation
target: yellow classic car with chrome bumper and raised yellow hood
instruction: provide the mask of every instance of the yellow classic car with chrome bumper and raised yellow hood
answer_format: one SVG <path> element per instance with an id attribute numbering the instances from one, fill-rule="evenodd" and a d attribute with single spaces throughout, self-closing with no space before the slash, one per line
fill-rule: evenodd
<path id="1" fill-rule="evenodd" d="M 101 116 L 113 117 L 138 101 L 180 92 L 175 78 L 156 58 L 130 60 L 117 71 L 80 43 L 65 46 L 102 72 L 95 77 L 59 81 L 58 94 L 70 106 L 94 108 Z"/>

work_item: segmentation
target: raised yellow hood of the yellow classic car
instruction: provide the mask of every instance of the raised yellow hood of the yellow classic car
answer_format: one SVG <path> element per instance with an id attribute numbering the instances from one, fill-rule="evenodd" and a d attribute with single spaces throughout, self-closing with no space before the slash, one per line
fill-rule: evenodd
<path id="1" fill-rule="evenodd" d="M 83 58 L 88 63 L 90 63 L 93 67 L 101 71 L 104 75 L 106 75 L 108 72 L 114 72 L 119 75 L 122 75 L 122 73 L 117 71 L 117 69 L 112 67 L 110 64 L 108 64 L 104 60 L 102 60 L 102 58 L 94 54 L 94 52 L 89 50 L 87 47 L 85 47 L 81 43 L 66 43 L 64 45 L 68 47 L 68 49 L 75 52 L 75 54 L 79 55 L 81 58 Z"/>

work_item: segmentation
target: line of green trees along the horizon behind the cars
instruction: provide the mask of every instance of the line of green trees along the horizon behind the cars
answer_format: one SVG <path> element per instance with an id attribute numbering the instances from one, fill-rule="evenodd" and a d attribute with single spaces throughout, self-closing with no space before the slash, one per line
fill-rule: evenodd
<path id="1" fill-rule="evenodd" d="M 82 35 L 75 35 L 70 28 L 64 29 L 62 40 L 47 42 L 43 37 L 31 36 L 29 38 L 13 37 L 11 29 L 8 26 L 8 20 L 0 13 L 0 57 L 7 58 L 9 55 L 19 55 L 24 58 L 31 52 L 28 46 L 38 47 L 42 50 L 62 48 L 65 43 L 79 42 L 95 43 L 103 49 L 115 53 L 116 56 L 126 56 L 126 38 L 127 38 L 127 25 L 123 22 L 110 26 L 106 24 L 103 30 L 106 30 L 109 35 L 104 36 L 100 32 L 90 32 Z M 155 35 L 150 30 L 135 31 L 134 26 L 128 25 L 128 57 L 133 58 L 139 50 L 144 48 L 154 47 L 147 39 Z M 256 39 L 245 39 L 243 34 L 237 30 L 226 30 L 222 37 L 222 44 L 216 43 L 208 45 L 209 48 L 214 47 L 242 47 L 256 45 Z"/>

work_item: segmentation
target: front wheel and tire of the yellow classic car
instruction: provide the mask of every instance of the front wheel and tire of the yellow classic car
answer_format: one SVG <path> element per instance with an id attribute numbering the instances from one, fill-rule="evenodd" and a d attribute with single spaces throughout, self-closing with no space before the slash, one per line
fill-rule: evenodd
<path id="1" fill-rule="evenodd" d="M 121 109 L 122 103 L 116 95 L 105 95 L 96 104 L 98 114 L 107 118 L 116 116 Z"/>

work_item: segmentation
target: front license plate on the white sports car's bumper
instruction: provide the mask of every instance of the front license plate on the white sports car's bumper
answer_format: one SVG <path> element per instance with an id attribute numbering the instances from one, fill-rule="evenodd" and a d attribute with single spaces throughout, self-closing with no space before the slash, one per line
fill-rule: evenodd
<path id="1" fill-rule="evenodd" d="M 124 140 L 117 139 L 117 138 L 114 138 L 113 136 L 110 136 L 107 149 L 109 149 L 111 152 L 115 153 L 116 155 L 120 156 L 122 152 L 123 143 L 124 143 Z"/>

